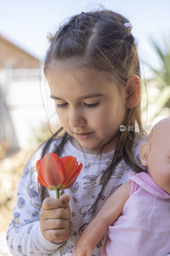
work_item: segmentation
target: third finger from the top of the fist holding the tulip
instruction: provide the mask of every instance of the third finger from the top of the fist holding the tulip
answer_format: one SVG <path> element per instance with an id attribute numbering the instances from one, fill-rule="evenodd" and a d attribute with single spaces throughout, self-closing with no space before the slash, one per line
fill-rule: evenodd
<path id="1" fill-rule="evenodd" d="M 45 232 L 48 229 L 66 229 L 69 226 L 68 220 L 63 219 L 48 219 L 44 220 L 44 223 L 41 225 L 41 228 Z M 55 238 L 56 239 L 56 238 Z"/>

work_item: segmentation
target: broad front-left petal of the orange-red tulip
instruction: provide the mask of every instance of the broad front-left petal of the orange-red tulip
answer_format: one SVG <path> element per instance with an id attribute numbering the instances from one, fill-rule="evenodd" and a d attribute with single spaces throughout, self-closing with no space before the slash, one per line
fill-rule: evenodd
<path id="1" fill-rule="evenodd" d="M 39 166 L 39 177 L 48 187 L 63 184 L 64 168 L 60 157 L 51 152 L 47 153 Z"/>

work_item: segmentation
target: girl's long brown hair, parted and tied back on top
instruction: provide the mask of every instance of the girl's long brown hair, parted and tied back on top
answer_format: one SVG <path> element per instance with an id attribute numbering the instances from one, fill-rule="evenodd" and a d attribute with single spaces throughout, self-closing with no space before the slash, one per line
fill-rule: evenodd
<path id="1" fill-rule="evenodd" d="M 75 68 L 80 66 L 81 68 L 91 68 L 107 72 L 112 75 L 113 79 L 118 81 L 117 84 L 119 87 L 125 85 L 127 78 L 132 74 L 136 74 L 141 78 L 134 36 L 130 32 L 130 28 L 123 25 L 127 22 L 129 22 L 129 20 L 121 14 L 110 10 L 81 12 L 79 15 L 72 16 L 68 22 L 60 26 L 55 35 L 51 37 L 51 44 L 44 60 L 45 76 L 47 76 L 50 69 L 52 70 L 55 67 L 55 64 L 68 64 L 69 66 L 71 63 L 72 67 L 75 64 Z M 139 100 L 135 108 L 127 109 L 127 115 L 123 123 L 124 126 L 142 126 L 140 105 L 141 100 Z M 60 137 L 58 134 L 62 130 L 63 127 L 45 141 L 41 158 L 48 152 L 52 140 L 56 137 Z M 140 130 L 140 133 L 142 135 L 146 132 Z M 132 170 L 136 172 L 145 171 L 137 164 L 132 155 L 135 131 L 133 131 L 133 129 L 132 131 L 126 129 L 124 132 L 118 131 L 116 135 L 118 135 L 118 140 L 115 154 L 112 162 L 102 174 L 102 188 L 91 207 L 93 210 L 98 203 L 108 179 L 114 174 L 115 167 L 121 159 L 124 159 L 125 163 Z M 57 148 L 55 148 L 54 153 L 61 157 L 63 146 L 69 139 L 69 134 L 65 132 L 60 138 L 62 138 L 62 140 Z M 100 159 L 102 149 L 99 152 Z M 42 203 L 46 197 L 45 187 L 41 186 L 40 191 Z"/>

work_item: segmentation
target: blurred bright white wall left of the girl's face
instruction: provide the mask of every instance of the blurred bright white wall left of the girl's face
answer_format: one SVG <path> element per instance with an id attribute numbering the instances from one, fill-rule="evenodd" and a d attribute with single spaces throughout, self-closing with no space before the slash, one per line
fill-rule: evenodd
<path id="1" fill-rule="evenodd" d="M 27 147 L 32 127 L 47 123 L 48 117 L 50 125 L 56 124 L 54 100 L 49 98 L 50 89 L 43 74 L 40 90 L 40 69 L 1 69 L 0 86 L 20 148 Z M 6 120 L 4 124 L 5 137 L 11 140 L 8 123 Z"/>

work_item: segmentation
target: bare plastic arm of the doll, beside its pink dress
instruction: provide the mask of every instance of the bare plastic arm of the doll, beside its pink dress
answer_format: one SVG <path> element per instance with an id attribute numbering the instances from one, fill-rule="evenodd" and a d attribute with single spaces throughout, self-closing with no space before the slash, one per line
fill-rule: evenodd
<path id="1" fill-rule="evenodd" d="M 96 244 L 99 243 L 101 238 L 107 231 L 108 226 L 113 224 L 115 220 L 119 217 L 122 212 L 123 206 L 129 198 L 131 189 L 131 181 L 122 184 L 105 202 L 105 204 L 100 209 L 100 212 L 96 215 L 96 217 L 87 225 L 81 234 L 76 251 L 73 255 L 77 255 L 78 246 L 80 252 L 84 250 L 84 248 L 94 249 Z M 89 249 L 89 250 L 90 250 Z M 86 250 L 87 251 L 87 250 Z M 81 255 L 81 254 L 80 254 Z M 90 254 L 82 254 L 82 255 L 90 255 Z"/>

